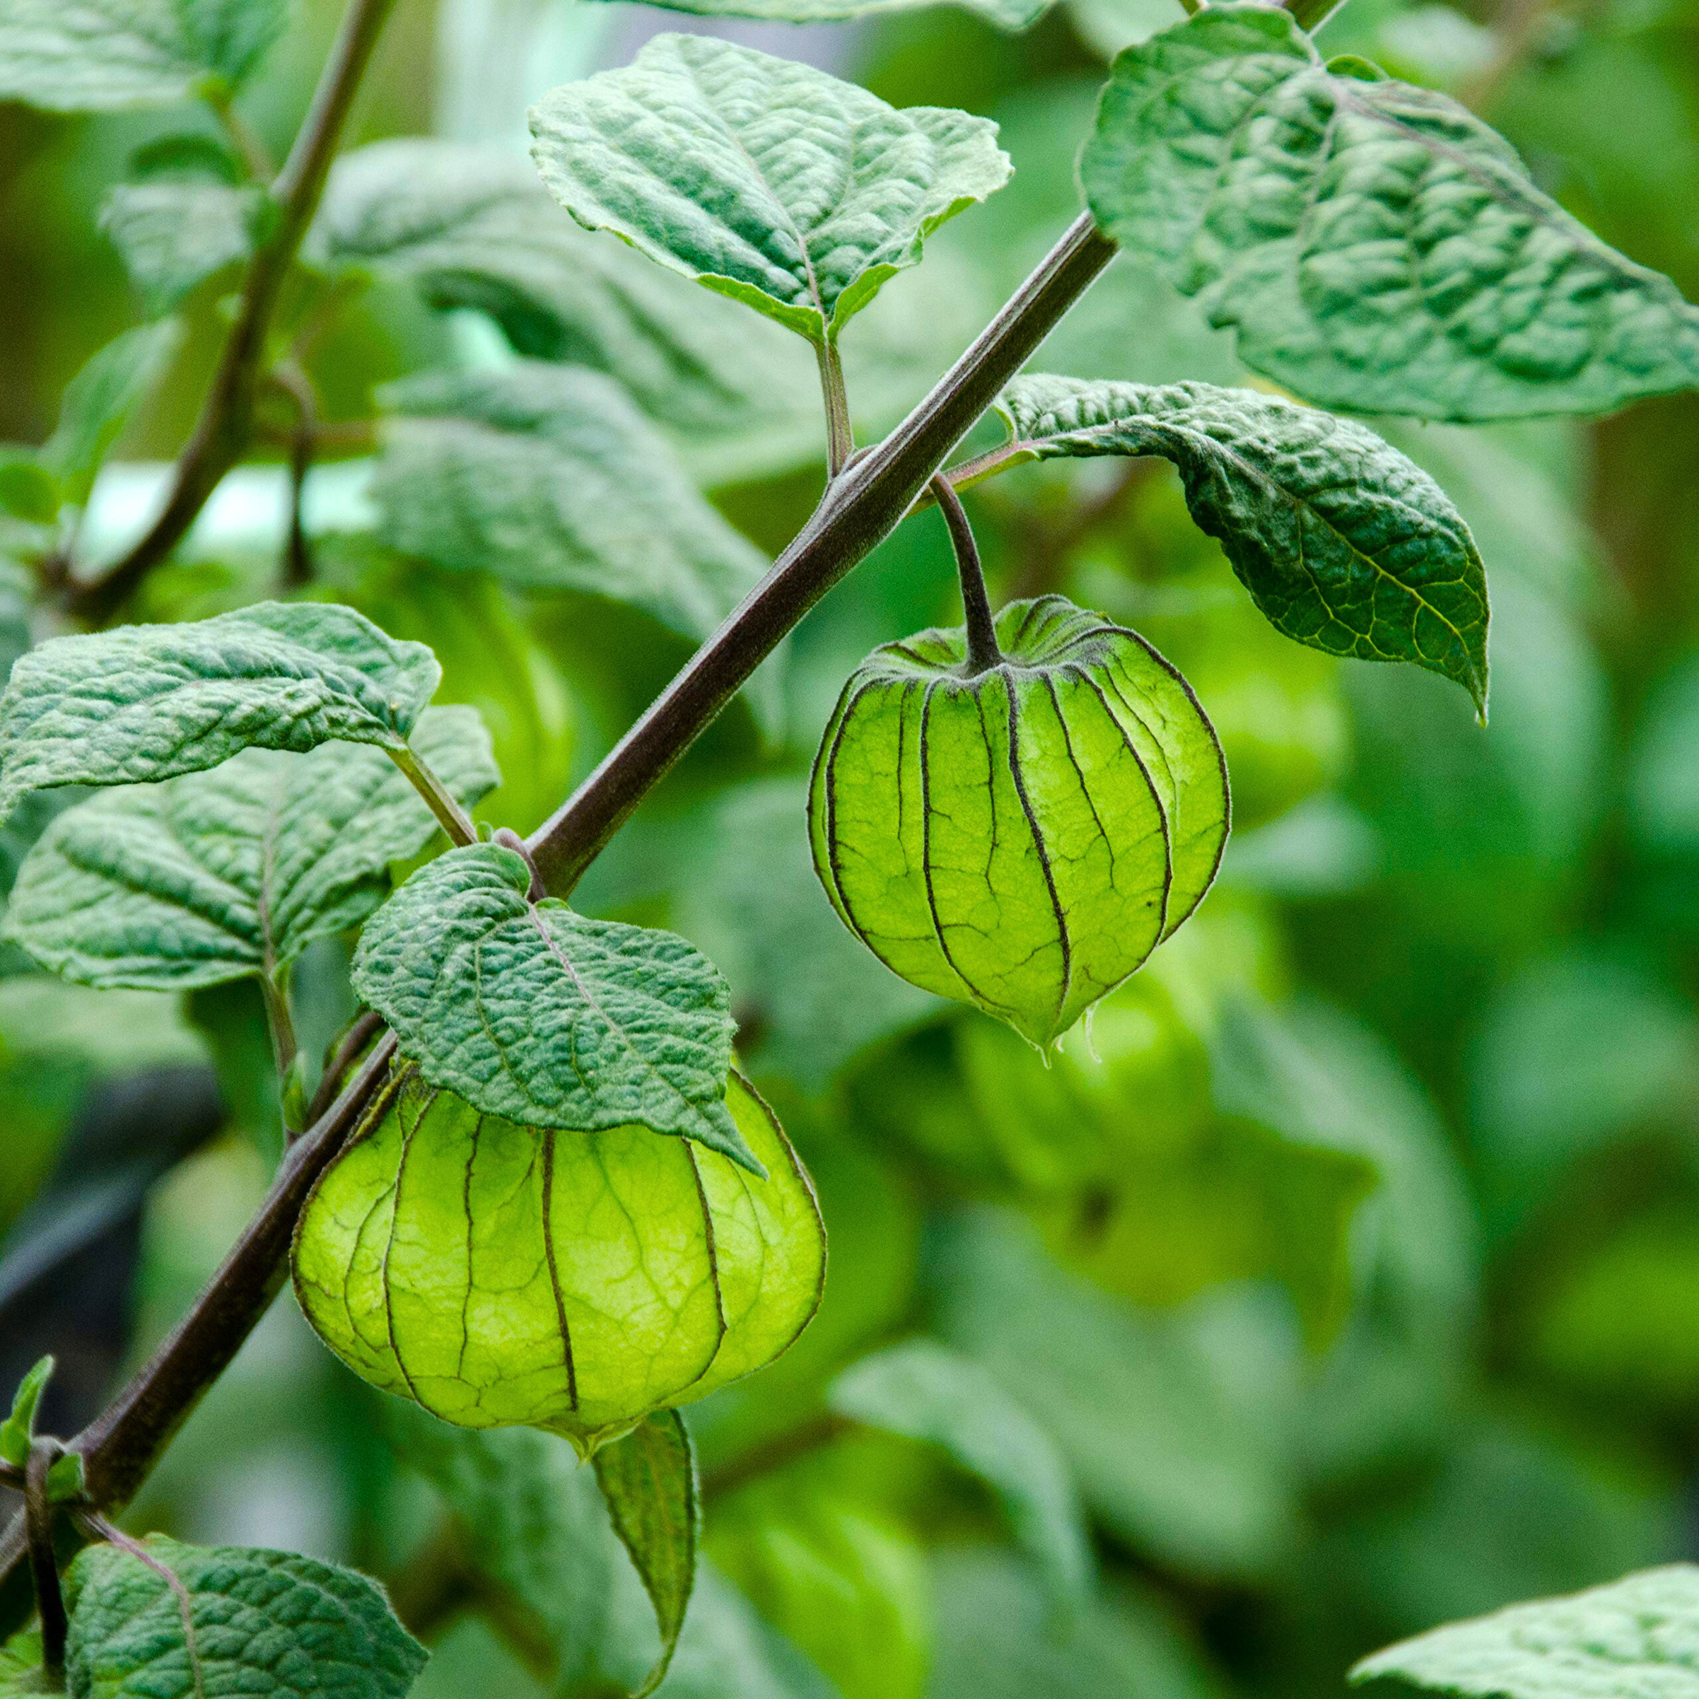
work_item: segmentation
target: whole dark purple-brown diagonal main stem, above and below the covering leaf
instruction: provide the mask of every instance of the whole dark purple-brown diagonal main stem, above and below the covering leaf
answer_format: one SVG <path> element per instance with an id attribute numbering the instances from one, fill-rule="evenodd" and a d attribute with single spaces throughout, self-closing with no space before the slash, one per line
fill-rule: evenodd
<path id="1" fill-rule="evenodd" d="M 530 839 L 528 848 L 550 890 L 564 895 L 571 889 L 756 666 L 897 525 L 945 455 L 1115 251 L 1115 243 L 1081 216 L 931 394 L 827 491 L 768 576 Z M 83 1458 L 88 1502 L 97 1509 L 116 1510 L 129 1502 L 265 1313 L 284 1281 L 296 1218 L 381 1089 L 394 1055 L 391 1035 L 330 1109 L 291 1145 L 258 1213 L 189 1313 L 119 1397 L 71 1441 L 71 1449 Z M 25 1544 L 24 1519 L 15 1517 L 0 1534 L 0 1583 L 17 1566 Z"/>

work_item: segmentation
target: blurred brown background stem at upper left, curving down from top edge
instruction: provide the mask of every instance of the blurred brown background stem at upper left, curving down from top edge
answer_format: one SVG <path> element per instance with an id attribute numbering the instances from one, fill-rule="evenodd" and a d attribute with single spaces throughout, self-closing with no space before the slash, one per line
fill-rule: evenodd
<path id="1" fill-rule="evenodd" d="M 241 308 L 194 435 L 177 460 L 172 493 L 160 516 L 129 554 L 92 583 L 70 586 L 71 610 L 83 618 L 99 624 L 117 612 L 124 598 L 182 542 L 224 474 L 248 450 L 272 313 L 301 238 L 318 209 L 360 76 L 394 3 L 396 0 L 348 0 L 341 31 L 313 92 L 301 134 L 272 183 L 272 228 L 248 262 Z"/>

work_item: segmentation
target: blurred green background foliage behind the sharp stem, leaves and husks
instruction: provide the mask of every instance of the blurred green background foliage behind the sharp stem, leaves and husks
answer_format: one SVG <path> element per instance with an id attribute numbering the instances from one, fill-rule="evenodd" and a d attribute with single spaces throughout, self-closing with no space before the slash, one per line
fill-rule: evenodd
<path id="1" fill-rule="evenodd" d="M 272 156 L 335 17 L 297 0 L 243 93 Z M 996 116 L 1014 156 L 1009 189 L 941 231 L 848 336 L 863 440 L 1074 216 L 1106 54 L 1169 20 L 1160 0 L 1064 0 L 1021 37 L 951 8 L 720 25 L 899 104 Z M 681 25 L 707 27 L 630 5 L 408 0 L 355 141 L 472 144 L 466 161 L 523 190 L 525 102 Z M 1692 0 L 1351 0 L 1322 39 L 1470 102 L 1544 189 L 1699 297 Z M 0 105 L 0 440 L 46 440 L 66 382 L 150 316 L 112 197 L 183 131 L 216 141 L 183 109 Z M 338 241 L 355 255 L 357 282 L 304 352 L 325 423 L 306 593 L 437 649 L 443 698 L 483 710 L 506 775 L 483 814 L 528 829 L 724 605 L 678 596 L 678 574 L 741 583 L 807 515 L 812 372 L 765 321 L 629 275 L 607 238 L 549 224 L 564 216 L 523 194 L 481 260 L 425 231 L 364 263 L 362 217 L 423 229 L 449 178 L 430 150 L 362 168 L 364 187 L 343 168 L 314 236 L 321 258 Z M 598 263 L 607 291 L 584 282 Z M 82 516 L 90 557 L 158 489 L 228 287 L 226 268 L 182 296 L 180 333 L 151 350 Z M 629 583 L 550 564 L 559 515 L 608 500 L 574 486 L 537 425 L 569 404 L 549 399 L 561 360 L 624 384 L 654 445 L 627 503 Z M 1245 381 L 1230 341 L 1135 257 L 1038 365 Z M 425 370 L 457 375 L 396 387 Z M 498 454 L 525 438 L 516 532 L 481 522 L 479 432 Z M 994 595 L 1062 590 L 1135 624 L 1191 678 L 1233 780 L 1215 894 L 1053 1067 L 885 974 L 809 868 L 807 763 L 843 676 L 873 644 L 957 618 L 934 513 L 833 593 L 583 883 L 586 911 L 675 926 L 724 968 L 744 1064 L 831 1232 L 810 1332 L 691 1412 L 715 1573 L 668 1694 L 1313 1696 L 1400 1634 L 1699 1556 L 1699 398 L 1388 435 L 1487 559 L 1490 731 L 1414 668 L 1278 637 L 1164 466 L 1047 466 L 970 498 Z M 272 591 L 282 459 L 226 481 L 133 617 Z M 17 586 L 0 591 L 10 656 L 29 622 Z M 7 875 L 49 810 L 0 834 Z M 345 965 L 333 945 L 299 970 L 311 1047 L 352 1011 Z M 70 1431 L 238 1232 L 279 1106 L 257 996 L 178 1008 L 3 967 L 0 1383 L 51 1346 L 46 1417 Z M 980 1364 L 1060 1448 L 1098 1563 L 1072 1626 L 941 1453 L 826 1414 L 833 1376 L 914 1332 Z M 564 1446 L 409 1441 L 379 1403 L 285 1298 L 134 1522 L 384 1577 L 437 1646 L 426 1699 L 586 1691 L 573 1600 L 591 1595 L 627 1624 L 641 1674 L 646 1606 Z"/>

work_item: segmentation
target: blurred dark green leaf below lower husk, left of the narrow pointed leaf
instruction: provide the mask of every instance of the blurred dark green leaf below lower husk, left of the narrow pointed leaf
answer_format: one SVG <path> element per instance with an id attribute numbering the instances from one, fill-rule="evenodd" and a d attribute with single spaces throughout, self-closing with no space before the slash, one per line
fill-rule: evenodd
<path id="1" fill-rule="evenodd" d="M 503 1629 L 571 1691 L 600 1670 L 615 1565 L 591 1470 L 556 1434 L 450 1427 L 384 1407 L 384 1437 L 443 1497 L 459 1556 L 501 1600 Z"/>

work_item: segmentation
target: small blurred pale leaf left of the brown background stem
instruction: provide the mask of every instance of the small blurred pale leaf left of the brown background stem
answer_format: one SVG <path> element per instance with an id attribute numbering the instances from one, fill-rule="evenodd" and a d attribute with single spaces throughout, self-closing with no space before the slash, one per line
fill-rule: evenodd
<path id="1" fill-rule="evenodd" d="M 150 313 L 170 313 L 209 277 L 253 253 L 263 190 L 219 182 L 119 183 L 100 228 Z"/>

